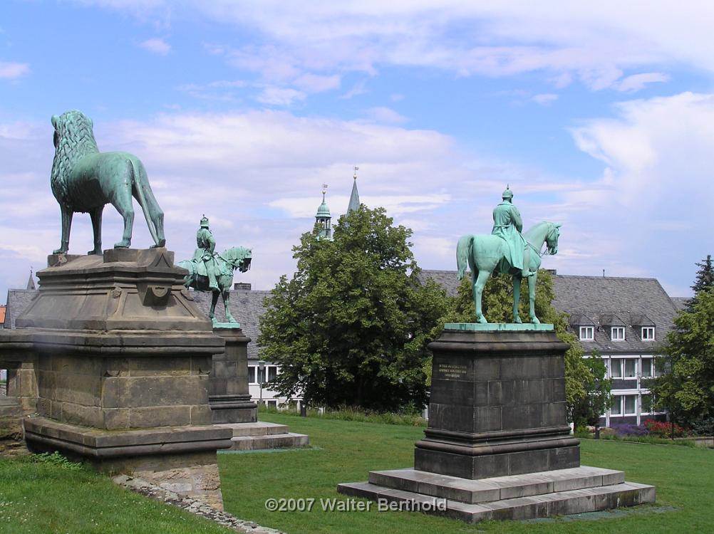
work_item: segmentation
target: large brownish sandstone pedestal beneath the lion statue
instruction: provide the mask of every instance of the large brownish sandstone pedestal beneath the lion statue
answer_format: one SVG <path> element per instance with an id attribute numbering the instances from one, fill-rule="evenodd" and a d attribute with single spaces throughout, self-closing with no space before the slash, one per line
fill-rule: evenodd
<path id="1" fill-rule="evenodd" d="M 212 424 L 208 376 L 225 342 L 188 299 L 174 253 L 114 249 L 49 262 L 56 267 L 37 273 L 17 329 L 0 332 L 0 353 L 34 361 L 28 447 L 141 473 L 221 508 L 216 449 L 231 446 L 232 432 Z"/>

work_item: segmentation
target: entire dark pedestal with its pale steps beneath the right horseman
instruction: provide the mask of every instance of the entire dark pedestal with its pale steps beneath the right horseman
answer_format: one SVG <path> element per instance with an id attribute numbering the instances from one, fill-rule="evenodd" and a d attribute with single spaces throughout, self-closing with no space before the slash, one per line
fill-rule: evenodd
<path id="1" fill-rule="evenodd" d="M 468 523 L 650 503 L 655 488 L 580 466 L 565 415 L 568 345 L 553 325 L 447 325 L 433 351 L 429 425 L 414 468 L 338 492 Z"/>

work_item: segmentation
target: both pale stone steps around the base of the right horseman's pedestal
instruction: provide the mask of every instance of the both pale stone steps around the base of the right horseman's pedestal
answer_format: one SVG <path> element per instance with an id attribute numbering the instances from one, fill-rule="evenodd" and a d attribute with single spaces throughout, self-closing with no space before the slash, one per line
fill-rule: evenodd
<path id="1" fill-rule="evenodd" d="M 655 501 L 654 486 L 625 482 L 622 471 L 585 466 L 481 480 L 414 469 L 372 471 L 368 482 L 340 484 L 338 492 L 467 523 L 595 512 Z"/>

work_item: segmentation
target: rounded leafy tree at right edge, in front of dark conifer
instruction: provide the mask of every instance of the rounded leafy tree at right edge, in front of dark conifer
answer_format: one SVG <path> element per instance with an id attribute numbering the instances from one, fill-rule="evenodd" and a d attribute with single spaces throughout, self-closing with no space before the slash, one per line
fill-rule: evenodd
<path id="1" fill-rule="evenodd" d="M 714 287 L 701 289 L 660 346 L 663 374 L 651 381 L 655 406 L 683 426 L 714 416 Z"/>

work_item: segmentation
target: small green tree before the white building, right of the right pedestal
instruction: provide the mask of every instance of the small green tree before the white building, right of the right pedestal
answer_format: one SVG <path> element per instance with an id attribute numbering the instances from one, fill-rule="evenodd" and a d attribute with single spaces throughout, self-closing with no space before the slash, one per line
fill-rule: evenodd
<path id="1" fill-rule="evenodd" d="M 600 437 L 600 416 L 610 408 L 612 402 L 613 381 L 607 377 L 607 366 L 597 351 L 589 358 L 583 359 L 583 364 L 590 371 L 590 376 L 584 376 L 585 396 L 573 405 L 572 419 L 575 426 L 595 426 L 595 438 Z"/>

